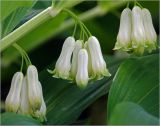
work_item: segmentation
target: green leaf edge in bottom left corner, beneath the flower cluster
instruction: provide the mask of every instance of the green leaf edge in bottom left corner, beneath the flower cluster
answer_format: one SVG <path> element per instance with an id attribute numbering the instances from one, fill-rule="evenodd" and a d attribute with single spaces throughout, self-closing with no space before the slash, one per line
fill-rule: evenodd
<path id="1" fill-rule="evenodd" d="M 1 124 L 2 125 L 35 125 L 35 126 L 42 125 L 39 121 L 31 117 L 19 115 L 16 113 L 9 113 L 9 112 L 5 112 L 1 114 Z"/>

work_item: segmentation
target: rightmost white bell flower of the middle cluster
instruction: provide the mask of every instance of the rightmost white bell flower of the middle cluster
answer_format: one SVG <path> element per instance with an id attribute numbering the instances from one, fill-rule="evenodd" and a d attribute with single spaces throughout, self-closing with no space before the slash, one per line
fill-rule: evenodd
<path id="1" fill-rule="evenodd" d="M 93 77 L 96 77 L 96 79 L 101 79 L 103 76 L 111 76 L 106 68 L 101 47 L 96 37 L 89 37 L 88 48 L 91 55 Z"/>

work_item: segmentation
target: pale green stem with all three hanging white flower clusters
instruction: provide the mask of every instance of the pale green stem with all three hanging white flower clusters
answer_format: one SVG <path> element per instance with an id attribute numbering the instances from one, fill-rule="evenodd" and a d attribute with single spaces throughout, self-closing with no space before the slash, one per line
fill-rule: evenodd
<path id="1" fill-rule="evenodd" d="M 52 66 L 53 69 L 46 70 L 50 75 L 49 77 L 64 79 L 76 84 L 80 90 L 85 90 L 90 86 L 89 84 L 92 84 L 90 82 L 97 82 L 103 78 L 114 76 L 111 75 L 106 64 L 101 42 L 96 34 L 92 35 L 87 26 L 71 10 L 62 7 L 54 13 L 54 6 L 55 3 L 53 2 L 51 7 L 4 37 L 1 47 L 1 51 L 3 51 L 9 45 L 12 45 L 22 57 L 20 70 L 15 72 L 12 77 L 10 90 L 5 100 L 5 111 L 33 117 L 41 122 L 47 122 L 43 84 L 41 85 L 38 70 L 32 64 L 26 51 L 20 45 L 14 43 L 14 40 L 19 38 L 13 36 L 18 34 L 21 29 L 29 27 L 29 31 L 34 25 L 38 26 L 38 23 L 35 24 L 36 21 L 46 20 L 65 12 L 71 16 L 75 27 L 73 34 L 66 36 L 59 57 L 55 65 Z M 23 33 L 25 32 L 27 30 L 24 30 Z M 13 42 L 11 39 L 13 39 Z M 7 43 L 8 41 L 11 41 L 11 43 Z M 157 34 L 150 11 L 136 1 L 131 10 L 128 2 L 127 7 L 121 12 L 117 41 L 113 50 L 121 50 L 132 56 L 143 56 L 144 53 L 151 53 L 156 49 Z"/>

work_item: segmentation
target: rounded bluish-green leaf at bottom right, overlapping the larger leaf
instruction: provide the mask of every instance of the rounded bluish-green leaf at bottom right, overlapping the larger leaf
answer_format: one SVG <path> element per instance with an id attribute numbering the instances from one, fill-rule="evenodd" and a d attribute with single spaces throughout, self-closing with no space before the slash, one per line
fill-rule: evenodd
<path id="1" fill-rule="evenodd" d="M 109 125 L 158 125 L 158 118 L 147 113 L 140 105 L 122 102 L 116 105 Z"/>

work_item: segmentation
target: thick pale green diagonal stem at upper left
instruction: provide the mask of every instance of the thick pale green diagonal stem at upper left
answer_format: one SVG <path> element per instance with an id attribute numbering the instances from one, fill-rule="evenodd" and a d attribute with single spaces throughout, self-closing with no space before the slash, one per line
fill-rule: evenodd
<path id="1" fill-rule="evenodd" d="M 22 36 L 26 35 L 28 32 L 32 31 L 34 28 L 36 28 L 43 22 L 56 16 L 58 13 L 59 11 L 53 10 L 52 7 L 48 7 L 47 9 L 33 17 L 31 20 L 24 23 L 22 26 L 20 26 L 1 40 L 0 52 L 13 44 L 13 42 L 15 42 L 16 40 L 20 39 Z"/>

